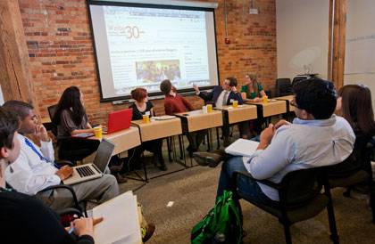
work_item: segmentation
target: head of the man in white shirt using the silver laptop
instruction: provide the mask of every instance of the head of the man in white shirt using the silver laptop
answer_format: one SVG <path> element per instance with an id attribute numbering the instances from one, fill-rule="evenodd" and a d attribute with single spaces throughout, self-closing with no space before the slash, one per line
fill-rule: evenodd
<path id="1" fill-rule="evenodd" d="M 14 112 L 20 118 L 21 126 L 19 132 L 21 134 L 34 134 L 37 129 L 37 115 L 34 107 L 27 103 L 16 100 L 7 101 L 3 105 L 4 109 Z"/>

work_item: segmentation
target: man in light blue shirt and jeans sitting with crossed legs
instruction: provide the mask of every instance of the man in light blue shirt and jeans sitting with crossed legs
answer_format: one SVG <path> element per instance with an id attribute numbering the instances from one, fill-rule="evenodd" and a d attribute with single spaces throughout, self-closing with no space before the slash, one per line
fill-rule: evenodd
<path id="1" fill-rule="evenodd" d="M 234 171 L 247 171 L 254 179 L 280 183 L 291 171 L 335 165 L 344 161 L 354 148 L 355 135 L 345 118 L 333 114 L 336 108 L 334 85 L 318 77 L 294 87 L 296 107 L 293 123 L 280 120 L 262 131 L 251 158 L 231 157 L 223 163 L 217 197 L 224 190 L 243 191 L 249 199 L 275 204 L 275 189 L 248 178 L 233 182 Z M 213 165 L 211 165 L 213 166 Z"/>

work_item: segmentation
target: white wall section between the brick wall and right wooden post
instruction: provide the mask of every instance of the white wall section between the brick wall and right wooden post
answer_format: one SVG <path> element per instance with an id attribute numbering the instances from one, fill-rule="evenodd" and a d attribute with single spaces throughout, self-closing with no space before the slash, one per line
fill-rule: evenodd
<path id="1" fill-rule="evenodd" d="M 329 0 L 276 0 L 278 77 L 327 78 Z"/>

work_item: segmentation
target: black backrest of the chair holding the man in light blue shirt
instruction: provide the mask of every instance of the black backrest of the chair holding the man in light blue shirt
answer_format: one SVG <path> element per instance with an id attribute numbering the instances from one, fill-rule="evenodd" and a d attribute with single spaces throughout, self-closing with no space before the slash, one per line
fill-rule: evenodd
<path id="1" fill-rule="evenodd" d="M 321 174 L 319 167 L 289 172 L 281 181 L 280 203 L 287 208 L 301 207 L 321 192 Z"/>

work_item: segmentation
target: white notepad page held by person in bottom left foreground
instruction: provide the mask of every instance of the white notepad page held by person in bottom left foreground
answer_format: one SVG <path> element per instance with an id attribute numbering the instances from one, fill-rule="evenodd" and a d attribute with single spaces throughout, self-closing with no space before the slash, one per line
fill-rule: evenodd
<path id="1" fill-rule="evenodd" d="M 104 217 L 104 221 L 94 227 L 96 243 L 142 243 L 137 214 L 137 198 L 131 191 L 94 207 L 92 215 Z"/>

